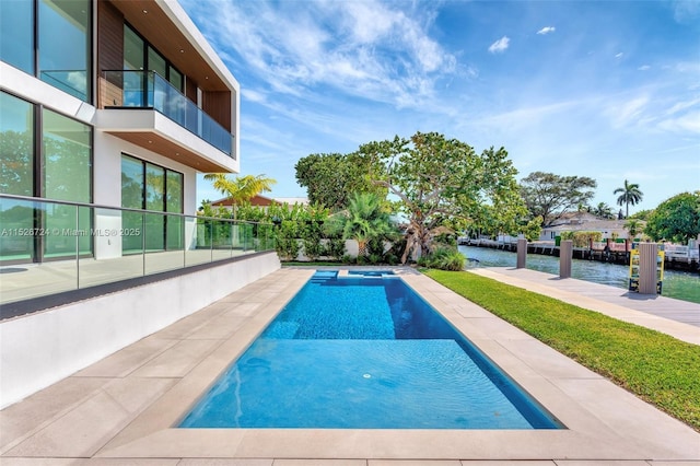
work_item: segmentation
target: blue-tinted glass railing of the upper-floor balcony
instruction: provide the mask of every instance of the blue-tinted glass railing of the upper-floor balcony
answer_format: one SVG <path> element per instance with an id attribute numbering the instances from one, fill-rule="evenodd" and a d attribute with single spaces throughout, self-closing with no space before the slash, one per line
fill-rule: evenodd
<path id="1" fill-rule="evenodd" d="M 152 108 L 235 158 L 233 135 L 156 72 L 105 71 L 103 85 L 106 108 Z"/>

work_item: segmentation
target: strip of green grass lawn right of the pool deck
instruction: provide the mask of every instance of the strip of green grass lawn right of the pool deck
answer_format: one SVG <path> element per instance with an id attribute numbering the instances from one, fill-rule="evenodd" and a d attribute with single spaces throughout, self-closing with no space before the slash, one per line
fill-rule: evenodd
<path id="1" fill-rule="evenodd" d="M 700 346 L 475 273 L 423 273 L 700 431 Z"/>

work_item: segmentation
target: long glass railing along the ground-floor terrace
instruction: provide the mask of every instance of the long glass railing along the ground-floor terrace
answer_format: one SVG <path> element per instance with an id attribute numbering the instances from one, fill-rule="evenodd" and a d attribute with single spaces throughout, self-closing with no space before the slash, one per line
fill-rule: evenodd
<path id="1" fill-rule="evenodd" d="M 266 251 L 268 223 L 0 195 L 0 305 Z"/>

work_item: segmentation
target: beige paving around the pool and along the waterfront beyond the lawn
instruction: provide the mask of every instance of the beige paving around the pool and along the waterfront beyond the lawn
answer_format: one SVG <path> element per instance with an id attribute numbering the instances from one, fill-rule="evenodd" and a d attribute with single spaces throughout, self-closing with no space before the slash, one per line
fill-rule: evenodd
<path id="1" fill-rule="evenodd" d="M 0 464 L 700 465 L 700 433 L 688 426 L 428 277 L 409 268 L 396 272 L 567 429 L 173 428 L 313 275 L 283 268 L 0 411 Z M 561 280 L 568 287 L 561 289 L 525 269 L 479 272 L 661 331 L 700 337 L 697 326 L 585 295 L 571 279 Z"/>

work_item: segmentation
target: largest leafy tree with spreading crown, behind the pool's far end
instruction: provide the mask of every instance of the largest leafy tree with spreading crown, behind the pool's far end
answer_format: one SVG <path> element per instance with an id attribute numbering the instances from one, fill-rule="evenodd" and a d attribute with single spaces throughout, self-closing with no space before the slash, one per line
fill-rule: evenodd
<path id="1" fill-rule="evenodd" d="M 477 154 L 456 139 L 417 132 L 410 139 L 397 136 L 363 144 L 358 154 L 384 166 L 374 182 L 398 198 L 408 219 L 401 263 L 411 251 L 419 257 L 430 254 L 440 226 L 478 224 L 514 232 L 526 213 L 517 193 L 517 171 L 503 148 Z"/>

